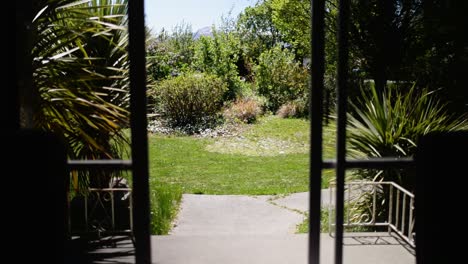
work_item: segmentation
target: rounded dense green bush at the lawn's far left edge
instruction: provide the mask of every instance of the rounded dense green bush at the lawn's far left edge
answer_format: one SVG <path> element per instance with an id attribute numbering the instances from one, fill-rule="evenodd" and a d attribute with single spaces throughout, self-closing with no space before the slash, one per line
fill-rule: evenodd
<path id="1" fill-rule="evenodd" d="M 226 85 L 214 75 L 188 73 L 157 85 L 162 114 L 172 128 L 188 133 L 214 125 Z"/>

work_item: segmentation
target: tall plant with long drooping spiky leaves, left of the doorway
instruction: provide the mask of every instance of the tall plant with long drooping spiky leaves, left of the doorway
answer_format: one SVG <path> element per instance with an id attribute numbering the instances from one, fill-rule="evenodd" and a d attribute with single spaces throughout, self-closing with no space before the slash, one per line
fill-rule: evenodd
<path id="1" fill-rule="evenodd" d="M 121 158 L 128 143 L 127 0 L 48 0 L 32 21 L 34 125 L 63 137 L 70 159 Z M 80 176 L 107 187 L 110 175 Z"/>

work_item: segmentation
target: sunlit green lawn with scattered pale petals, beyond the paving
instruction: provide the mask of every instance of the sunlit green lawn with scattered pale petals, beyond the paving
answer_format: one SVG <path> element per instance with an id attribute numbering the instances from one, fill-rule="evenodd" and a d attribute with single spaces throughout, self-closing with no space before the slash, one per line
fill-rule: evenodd
<path id="1" fill-rule="evenodd" d="M 152 135 L 151 181 L 195 194 L 304 192 L 309 184 L 308 140 L 308 121 L 274 116 L 248 125 L 235 137 Z M 324 173 L 323 188 L 330 174 Z"/>

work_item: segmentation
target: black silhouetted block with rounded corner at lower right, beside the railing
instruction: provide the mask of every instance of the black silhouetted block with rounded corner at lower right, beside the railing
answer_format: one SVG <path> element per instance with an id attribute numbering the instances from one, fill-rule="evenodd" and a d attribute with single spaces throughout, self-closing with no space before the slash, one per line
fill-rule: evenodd
<path id="1" fill-rule="evenodd" d="M 417 264 L 466 263 L 468 131 L 424 136 L 415 156 Z"/>

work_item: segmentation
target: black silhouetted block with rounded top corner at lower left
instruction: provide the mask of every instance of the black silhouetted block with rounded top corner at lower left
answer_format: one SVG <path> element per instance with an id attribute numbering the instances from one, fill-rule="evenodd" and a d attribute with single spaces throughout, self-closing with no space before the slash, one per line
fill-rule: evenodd
<path id="1" fill-rule="evenodd" d="M 59 139 L 41 131 L 0 133 L 3 218 L 7 255 L 17 263 L 63 263 L 66 232 L 66 153 Z"/>

